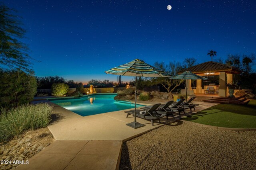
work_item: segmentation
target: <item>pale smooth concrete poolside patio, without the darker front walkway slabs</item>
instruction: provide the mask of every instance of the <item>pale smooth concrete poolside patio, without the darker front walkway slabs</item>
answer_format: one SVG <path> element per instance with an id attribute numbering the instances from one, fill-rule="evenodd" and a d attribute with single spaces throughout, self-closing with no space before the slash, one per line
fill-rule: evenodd
<path id="1" fill-rule="evenodd" d="M 33 103 L 40 102 L 46 102 L 54 106 L 54 115 L 56 117 L 56 121 L 54 121 L 54 123 L 51 125 L 48 125 L 48 129 L 52 132 L 52 135 L 56 140 L 127 141 L 142 133 L 146 133 L 147 131 L 175 121 L 175 119 L 172 118 L 166 120 L 164 117 L 161 118 L 161 123 L 155 121 L 154 126 L 152 126 L 149 120 L 138 117 L 137 121 L 145 126 L 138 129 L 133 129 L 128 127 L 126 124 L 134 121 L 134 117 L 130 115 L 128 118 L 126 118 L 126 113 L 124 113 L 124 111 L 130 109 L 83 117 L 47 100 L 35 101 Z M 156 103 L 164 104 L 165 102 L 144 102 L 143 104 L 151 105 Z M 216 105 L 205 102 L 196 102 L 196 104 L 200 104 L 200 106 L 196 108 L 196 111 Z M 188 110 L 186 112 L 188 112 Z"/>

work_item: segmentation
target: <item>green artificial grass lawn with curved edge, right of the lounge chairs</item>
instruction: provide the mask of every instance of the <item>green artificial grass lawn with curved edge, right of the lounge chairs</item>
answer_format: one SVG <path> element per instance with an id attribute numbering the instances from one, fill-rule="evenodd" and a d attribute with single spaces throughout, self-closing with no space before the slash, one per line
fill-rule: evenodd
<path id="1" fill-rule="evenodd" d="M 218 104 L 183 119 L 218 127 L 256 128 L 256 100 L 247 105 Z"/>

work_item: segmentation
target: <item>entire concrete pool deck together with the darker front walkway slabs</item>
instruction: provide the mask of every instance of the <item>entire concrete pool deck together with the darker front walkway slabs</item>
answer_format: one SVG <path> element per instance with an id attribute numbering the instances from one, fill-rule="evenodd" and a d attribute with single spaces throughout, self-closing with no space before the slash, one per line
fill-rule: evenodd
<path id="1" fill-rule="evenodd" d="M 32 103 L 41 102 L 54 106 L 56 121 L 48 129 L 56 141 L 30 158 L 28 165 L 18 166 L 20 170 L 118 169 L 122 142 L 175 121 L 162 118 L 161 124 L 156 121 L 152 126 L 150 121 L 137 118 L 145 126 L 133 129 L 126 124 L 134 121 L 134 117 L 126 118 L 124 113 L 130 109 L 82 117 L 47 100 Z M 165 102 L 144 102 L 145 105 L 156 103 Z M 195 103 L 200 104 L 196 112 L 216 105 Z"/>

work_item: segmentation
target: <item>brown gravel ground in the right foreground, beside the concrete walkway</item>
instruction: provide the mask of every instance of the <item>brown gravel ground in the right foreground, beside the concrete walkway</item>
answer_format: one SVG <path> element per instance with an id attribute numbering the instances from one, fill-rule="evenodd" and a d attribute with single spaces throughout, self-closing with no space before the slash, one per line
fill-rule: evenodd
<path id="1" fill-rule="evenodd" d="M 255 170 L 256 131 L 224 131 L 178 121 L 123 144 L 121 170 Z"/>

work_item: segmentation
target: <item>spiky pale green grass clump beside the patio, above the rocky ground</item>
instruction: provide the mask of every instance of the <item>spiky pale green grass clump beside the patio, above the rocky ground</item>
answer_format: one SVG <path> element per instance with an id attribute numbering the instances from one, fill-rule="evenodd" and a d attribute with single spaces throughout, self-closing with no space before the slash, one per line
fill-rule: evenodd
<path id="1" fill-rule="evenodd" d="M 46 127 L 51 121 L 53 107 L 48 104 L 25 104 L 0 112 L 0 142 L 8 141 L 27 129 Z"/>

